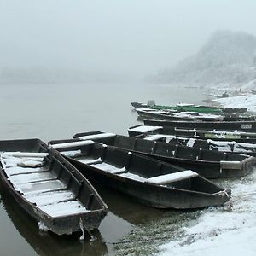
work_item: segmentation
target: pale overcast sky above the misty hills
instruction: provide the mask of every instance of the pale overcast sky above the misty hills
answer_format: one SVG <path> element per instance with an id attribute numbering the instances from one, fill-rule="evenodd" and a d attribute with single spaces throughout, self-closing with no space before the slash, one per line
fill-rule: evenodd
<path id="1" fill-rule="evenodd" d="M 220 29 L 256 35 L 255 0 L 0 0 L 0 68 L 156 73 Z"/>

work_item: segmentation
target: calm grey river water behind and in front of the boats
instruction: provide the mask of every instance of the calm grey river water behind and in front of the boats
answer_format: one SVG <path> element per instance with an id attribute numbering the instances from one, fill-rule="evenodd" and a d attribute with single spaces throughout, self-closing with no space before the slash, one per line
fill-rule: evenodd
<path id="1" fill-rule="evenodd" d="M 126 134 L 129 126 L 138 124 L 131 102 L 202 103 L 203 98 L 195 88 L 142 84 L 0 84 L 0 89 L 0 139 L 39 137 L 45 142 L 72 137 L 79 131 Z M 80 242 L 80 234 L 59 237 L 40 232 L 1 189 L 0 255 L 125 255 L 137 246 L 132 239 L 155 238 L 167 226 L 172 227 L 165 220 L 176 221 L 177 216 L 186 214 L 145 207 L 98 185 L 96 189 L 109 212 L 94 232 L 97 241 L 93 242 L 89 236 Z"/>

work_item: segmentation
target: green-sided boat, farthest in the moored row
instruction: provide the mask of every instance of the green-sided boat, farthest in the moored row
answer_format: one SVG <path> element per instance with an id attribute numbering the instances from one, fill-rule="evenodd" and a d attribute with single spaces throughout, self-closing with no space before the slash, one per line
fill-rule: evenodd
<path id="1" fill-rule="evenodd" d="M 131 102 L 131 106 L 134 108 L 152 108 L 157 110 L 162 109 L 172 109 L 177 111 L 189 111 L 189 112 L 198 112 L 198 113 L 244 113 L 247 111 L 247 108 L 222 108 L 214 106 L 204 106 L 204 105 L 195 105 L 195 104 L 177 104 L 176 106 L 165 106 L 165 105 L 149 105 L 140 102 Z"/>

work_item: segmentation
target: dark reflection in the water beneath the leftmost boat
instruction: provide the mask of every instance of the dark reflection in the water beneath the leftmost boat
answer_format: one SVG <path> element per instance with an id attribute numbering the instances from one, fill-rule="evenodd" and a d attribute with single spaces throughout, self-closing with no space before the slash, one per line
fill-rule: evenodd
<path id="1" fill-rule="evenodd" d="M 108 248 L 102 240 L 101 233 L 94 230 L 96 241 L 90 242 L 90 236 L 84 241 L 79 241 L 81 234 L 74 236 L 57 236 L 51 232 L 38 230 L 38 224 L 8 195 L 6 190 L 0 189 L 3 207 L 9 218 L 26 241 L 39 255 L 106 255 Z M 4 252 L 2 252 L 4 253 Z"/>

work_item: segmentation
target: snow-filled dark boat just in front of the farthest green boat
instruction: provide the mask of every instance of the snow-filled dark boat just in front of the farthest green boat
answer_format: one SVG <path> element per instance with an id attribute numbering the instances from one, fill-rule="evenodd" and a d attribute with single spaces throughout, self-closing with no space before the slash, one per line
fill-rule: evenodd
<path id="1" fill-rule="evenodd" d="M 136 108 L 141 119 L 179 120 L 179 121 L 249 121 L 255 120 L 252 115 L 217 115 L 209 113 L 179 112 L 172 110 L 154 110 L 150 108 Z"/>

